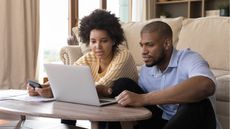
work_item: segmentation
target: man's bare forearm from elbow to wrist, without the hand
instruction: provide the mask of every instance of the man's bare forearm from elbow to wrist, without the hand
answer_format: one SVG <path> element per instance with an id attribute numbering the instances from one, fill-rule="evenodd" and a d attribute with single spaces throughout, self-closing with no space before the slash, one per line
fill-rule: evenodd
<path id="1" fill-rule="evenodd" d="M 146 94 L 146 104 L 190 103 L 214 94 L 214 82 L 203 76 L 192 77 L 174 87 Z"/>

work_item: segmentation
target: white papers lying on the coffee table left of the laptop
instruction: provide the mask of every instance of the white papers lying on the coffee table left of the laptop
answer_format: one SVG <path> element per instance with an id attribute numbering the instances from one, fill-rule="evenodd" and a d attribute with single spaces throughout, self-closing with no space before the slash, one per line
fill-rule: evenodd
<path id="1" fill-rule="evenodd" d="M 28 102 L 53 101 L 54 98 L 44 98 L 41 96 L 29 96 L 26 90 L 0 90 L 1 100 L 20 100 Z"/>

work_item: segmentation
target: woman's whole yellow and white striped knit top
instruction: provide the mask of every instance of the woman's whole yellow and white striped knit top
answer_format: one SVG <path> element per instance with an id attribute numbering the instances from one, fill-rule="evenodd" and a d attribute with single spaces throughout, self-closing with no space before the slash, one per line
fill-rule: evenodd
<path id="1" fill-rule="evenodd" d="M 88 52 L 79 58 L 74 65 L 88 65 L 91 68 L 96 86 L 112 86 L 113 81 L 124 77 L 130 78 L 136 82 L 138 79 L 134 59 L 127 49 L 118 48 L 109 66 L 102 73 L 98 73 L 99 60 L 93 52 Z"/>

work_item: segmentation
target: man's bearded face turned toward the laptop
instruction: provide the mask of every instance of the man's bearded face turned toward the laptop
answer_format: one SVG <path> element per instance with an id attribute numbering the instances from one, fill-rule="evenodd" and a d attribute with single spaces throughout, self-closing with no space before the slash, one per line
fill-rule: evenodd
<path id="1" fill-rule="evenodd" d="M 165 58 L 164 41 L 156 32 L 144 32 L 141 34 L 140 46 L 142 57 L 147 67 L 163 63 Z"/>

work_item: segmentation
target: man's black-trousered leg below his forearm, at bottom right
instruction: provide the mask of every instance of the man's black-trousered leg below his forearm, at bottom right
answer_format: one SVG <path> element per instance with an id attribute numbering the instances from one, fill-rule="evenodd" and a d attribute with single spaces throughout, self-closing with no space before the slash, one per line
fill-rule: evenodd
<path id="1" fill-rule="evenodd" d="M 181 104 L 164 129 L 216 128 L 215 113 L 209 99 Z"/>

